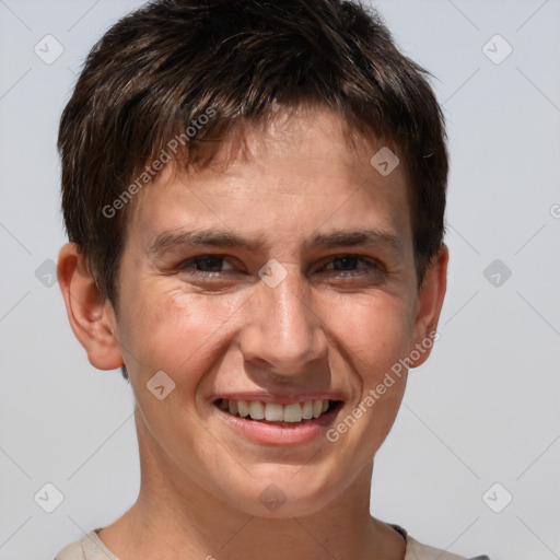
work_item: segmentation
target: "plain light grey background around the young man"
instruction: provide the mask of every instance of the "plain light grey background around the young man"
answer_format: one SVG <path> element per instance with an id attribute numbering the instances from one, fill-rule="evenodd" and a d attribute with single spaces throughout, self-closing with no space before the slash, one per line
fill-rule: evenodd
<path id="1" fill-rule="evenodd" d="M 129 385 L 90 365 L 35 271 L 66 241 L 60 112 L 94 40 L 140 3 L 0 0 L 1 560 L 51 560 L 139 488 Z M 560 558 L 560 1 L 375 5 L 438 78 L 452 172 L 441 339 L 377 454 L 372 512 L 457 553 Z M 65 48 L 51 65 L 34 52 L 47 34 Z M 495 34 L 513 47 L 499 65 Z M 494 259 L 512 272 L 498 287 Z M 63 494 L 50 514 L 34 501 L 47 482 Z M 494 509 L 513 495 L 501 513 L 482 498 L 495 482 Z"/>

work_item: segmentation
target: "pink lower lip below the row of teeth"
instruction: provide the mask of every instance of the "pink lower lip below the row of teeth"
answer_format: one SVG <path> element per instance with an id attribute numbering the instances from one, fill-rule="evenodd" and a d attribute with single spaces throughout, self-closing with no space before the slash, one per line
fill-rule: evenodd
<path id="1" fill-rule="evenodd" d="M 340 405 L 341 404 L 334 410 L 320 415 L 318 418 L 293 422 L 292 425 L 247 420 L 238 416 L 233 416 L 215 405 L 212 406 L 220 413 L 221 418 L 249 440 L 268 445 L 294 445 L 310 442 L 322 435 L 325 436 L 326 430 L 335 422 L 338 413 L 342 409 Z"/>

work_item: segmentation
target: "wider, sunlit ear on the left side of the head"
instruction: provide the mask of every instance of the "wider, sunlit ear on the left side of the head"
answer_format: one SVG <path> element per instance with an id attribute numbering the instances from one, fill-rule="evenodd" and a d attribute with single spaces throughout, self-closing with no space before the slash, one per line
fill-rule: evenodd
<path id="1" fill-rule="evenodd" d="M 75 243 L 60 249 L 57 276 L 68 320 L 90 363 L 97 370 L 122 365 L 113 305 L 97 289 Z"/>

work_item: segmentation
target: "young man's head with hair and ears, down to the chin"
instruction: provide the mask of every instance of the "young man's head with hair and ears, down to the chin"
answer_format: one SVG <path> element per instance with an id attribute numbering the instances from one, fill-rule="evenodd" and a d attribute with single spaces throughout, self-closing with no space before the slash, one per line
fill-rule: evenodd
<path id="1" fill-rule="evenodd" d="M 339 420 L 363 412 L 336 443 L 243 441 L 225 460 L 283 481 L 287 514 L 332 500 L 388 433 L 443 303 L 447 153 L 427 72 L 354 2 L 163 0 L 93 47 L 58 147 L 69 318 L 93 365 L 130 377 L 161 468 L 256 498 L 243 469 L 212 469 L 232 430 L 217 398 L 329 394 Z"/>

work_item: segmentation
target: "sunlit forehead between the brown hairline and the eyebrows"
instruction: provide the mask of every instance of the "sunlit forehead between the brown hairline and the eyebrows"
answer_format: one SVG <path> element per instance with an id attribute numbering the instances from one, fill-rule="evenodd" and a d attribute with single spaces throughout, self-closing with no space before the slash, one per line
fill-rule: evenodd
<path id="1" fill-rule="evenodd" d="M 406 245 L 411 232 L 404 166 L 384 175 L 371 163 L 387 149 L 398 152 L 352 136 L 328 109 L 280 114 L 266 129 L 232 135 L 203 168 L 184 173 L 167 164 L 137 195 L 127 243 L 137 240 L 145 248 L 164 232 L 218 226 L 258 236 L 261 246 L 273 235 L 301 244 L 319 231 L 375 226 Z"/>

